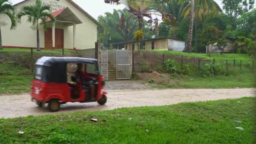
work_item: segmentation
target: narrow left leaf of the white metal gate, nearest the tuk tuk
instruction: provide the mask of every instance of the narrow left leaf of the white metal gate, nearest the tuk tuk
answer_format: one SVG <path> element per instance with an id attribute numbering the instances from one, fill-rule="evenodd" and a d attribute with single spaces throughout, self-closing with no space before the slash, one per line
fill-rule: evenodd
<path id="1" fill-rule="evenodd" d="M 101 50 L 101 73 L 105 80 L 108 80 L 108 52 L 107 49 Z"/>

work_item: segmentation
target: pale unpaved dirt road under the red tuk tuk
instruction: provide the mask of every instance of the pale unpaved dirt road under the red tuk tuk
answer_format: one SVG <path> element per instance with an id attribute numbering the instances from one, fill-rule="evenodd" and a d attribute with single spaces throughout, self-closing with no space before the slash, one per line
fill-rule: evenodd
<path id="1" fill-rule="evenodd" d="M 48 112 L 30 101 L 29 94 L 0 96 L 0 118 L 24 117 L 28 115 L 52 115 L 76 111 L 100 111 L 121 107 L 160 106 L 180 102 L 211 101 L 255 96 L 256 89 L 171 89 L 171 90 L 112 90 L 104 106 L 97 103 L 68 103 L 61 111 Z"/>

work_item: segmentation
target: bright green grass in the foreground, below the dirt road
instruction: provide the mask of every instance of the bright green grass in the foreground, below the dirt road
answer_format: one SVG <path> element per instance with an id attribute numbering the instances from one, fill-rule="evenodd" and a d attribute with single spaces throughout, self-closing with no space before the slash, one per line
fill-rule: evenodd
<path id="1" fill-rule="evenodd" d="M 256 134 L 255 100 L 243 98 L 0 119 L 0 141 L 3 144 L 252 144 Z M 99 121 L 92 122 L 91 118 Z M 19 131 L 24 134 L 18 134 Z"/>

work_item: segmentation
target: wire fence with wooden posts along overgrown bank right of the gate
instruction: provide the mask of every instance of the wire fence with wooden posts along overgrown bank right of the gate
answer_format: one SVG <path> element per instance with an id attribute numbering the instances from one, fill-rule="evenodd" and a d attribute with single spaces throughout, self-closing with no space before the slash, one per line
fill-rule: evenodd
<path id="1" fill-rule="evenodd" d="M 166 72 L 165 61 L 168 59 L 175 60 L 176 71 L 186 75 L 237 75 L 255 72 L 253 59 L 204 59 L 152 52 L 136 53 L 134 59 L 137 72 Z"/>

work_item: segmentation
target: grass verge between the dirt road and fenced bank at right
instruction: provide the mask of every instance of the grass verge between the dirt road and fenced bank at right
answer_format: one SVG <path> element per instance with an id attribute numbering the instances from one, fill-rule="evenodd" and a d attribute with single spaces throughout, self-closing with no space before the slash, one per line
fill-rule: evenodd
<path id="1" fill-rule="evenodd" d="M 187 75 L 172 75 L 174 82 L 169 85 L 152 84 L 154 88 L 253 88 L 254 75 L 251 73 L 239 75 L 217 75 L 214 77 L 189 77 Z"/>

